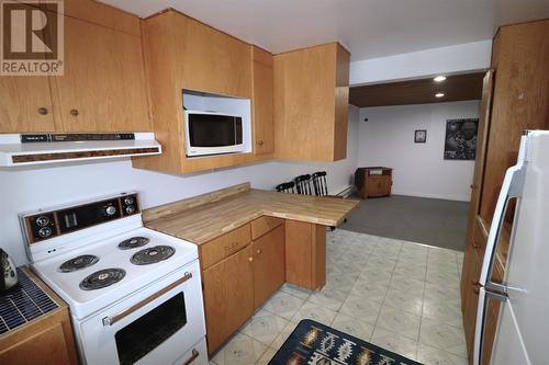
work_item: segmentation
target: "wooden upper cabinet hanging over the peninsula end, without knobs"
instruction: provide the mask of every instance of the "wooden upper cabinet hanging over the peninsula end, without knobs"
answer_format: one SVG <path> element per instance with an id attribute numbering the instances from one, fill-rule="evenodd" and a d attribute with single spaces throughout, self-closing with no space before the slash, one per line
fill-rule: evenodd
<path id="1" fill-rule="evenodd" d="M 346 158 L 349 53 L 337 43 L 274 56 L 276 157 Z"/>

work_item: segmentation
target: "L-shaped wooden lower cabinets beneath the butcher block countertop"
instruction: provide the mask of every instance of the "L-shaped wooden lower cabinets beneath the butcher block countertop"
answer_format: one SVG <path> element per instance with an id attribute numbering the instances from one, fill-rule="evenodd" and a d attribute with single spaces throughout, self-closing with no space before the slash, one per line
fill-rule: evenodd
<path id="1" fill-rule="evenodd" d="M 234 247 L 239 249 L 232 251 Z M 221 261 L 219 254 L 212 255 L 229 251 Z M 284 282 L 311 289 L 324 286 L 326 227 L 262 216 L 202 244 L 199 255 L 208 352 L 212 354 Z"/>

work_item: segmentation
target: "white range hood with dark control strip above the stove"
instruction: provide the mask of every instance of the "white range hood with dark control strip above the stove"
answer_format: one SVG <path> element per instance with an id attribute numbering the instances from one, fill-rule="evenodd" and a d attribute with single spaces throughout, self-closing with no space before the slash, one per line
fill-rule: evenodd
<path id="1" fill-rule="evenodd" d="M 0 167 L 160 155 L 154 133 L 4 134 Z"/>

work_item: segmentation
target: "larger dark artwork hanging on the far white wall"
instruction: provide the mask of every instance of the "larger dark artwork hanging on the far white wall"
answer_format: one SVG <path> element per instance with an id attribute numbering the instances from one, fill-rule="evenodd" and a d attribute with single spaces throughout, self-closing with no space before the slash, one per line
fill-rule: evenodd
<path id="1" fill-rule="evenodd" d="M 474 160 L 479 118 L 446 121 L 445 160 Z"/>

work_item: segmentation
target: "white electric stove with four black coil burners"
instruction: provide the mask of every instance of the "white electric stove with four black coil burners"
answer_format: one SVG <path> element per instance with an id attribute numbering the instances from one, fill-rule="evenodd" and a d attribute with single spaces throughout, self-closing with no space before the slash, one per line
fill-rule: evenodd
<path id="1" fill-rule="evenodd" d="M 82 364 L 208 364 L 195 244 L 143 227 L 137 193 L 20 215 L 70 307 Z"/>

